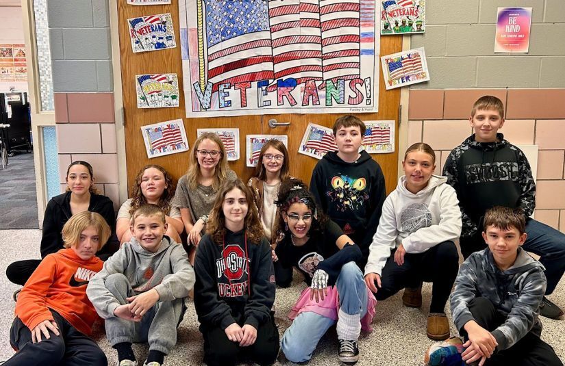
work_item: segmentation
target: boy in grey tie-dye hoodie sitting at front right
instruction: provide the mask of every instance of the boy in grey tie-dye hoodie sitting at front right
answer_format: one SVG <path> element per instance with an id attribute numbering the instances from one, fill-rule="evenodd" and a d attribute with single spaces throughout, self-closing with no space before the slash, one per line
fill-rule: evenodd
<path id="1" fill-rule="evenodd" d="M 563 365 L 540 339 L 540 302 L 546 289 L 544 267 L 520 246 L 521 209 L 486 211 L 482 236 L 488 248 L 461 265 L 451 294 L 453 322 L 464 336 L 462 358 L 479 365 Z"/>

